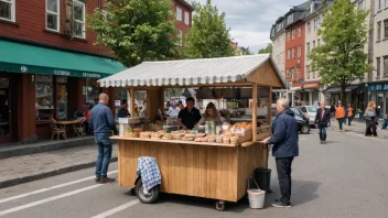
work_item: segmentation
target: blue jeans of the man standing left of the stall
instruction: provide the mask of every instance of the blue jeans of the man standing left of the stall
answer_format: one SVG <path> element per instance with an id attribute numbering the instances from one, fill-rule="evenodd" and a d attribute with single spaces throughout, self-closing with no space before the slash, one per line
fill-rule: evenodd
<path id="1" fill-rule="evenodd" d="M 96 162 L 96 177 L 107 177 L 109 162 L 111 157 L 110 133 L 95 133 L 98 155 Z"/>

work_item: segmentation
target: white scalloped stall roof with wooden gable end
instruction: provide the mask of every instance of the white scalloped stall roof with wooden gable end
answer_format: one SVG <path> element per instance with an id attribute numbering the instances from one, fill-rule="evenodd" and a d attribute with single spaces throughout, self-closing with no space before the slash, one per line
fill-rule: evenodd
<path id="1" fill-rule="evenodd" d="M 255 81 L 285 87 L 270 54 L 220 58 L 143 62 L 121 73 L 100 79 L 101 87 L 191 86 Z"/>

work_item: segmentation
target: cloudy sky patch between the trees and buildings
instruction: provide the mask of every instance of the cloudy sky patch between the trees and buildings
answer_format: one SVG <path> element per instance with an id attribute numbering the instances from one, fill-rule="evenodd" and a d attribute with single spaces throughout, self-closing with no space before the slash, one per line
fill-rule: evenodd
<path id="1" fill-rule="evenodd" d="M 196 0 L 206 3 L 206 0 Z M 191 2 L 187 0 L 187 2 Z M 239 46 L 257 53 L 271 42 L 269 34 L 274 21 L 287 13 L 291 7 L 303 0 L 212 0 L 219 12 L 226 13 L 226 25 L 230 36 Z"/>

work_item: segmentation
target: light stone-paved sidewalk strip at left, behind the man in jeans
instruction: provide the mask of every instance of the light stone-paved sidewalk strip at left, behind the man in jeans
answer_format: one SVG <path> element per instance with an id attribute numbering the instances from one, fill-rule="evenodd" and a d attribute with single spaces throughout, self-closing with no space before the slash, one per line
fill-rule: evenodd
<path id="1" fill-rule="evenodd" d="M 45 177 L 93 167 L 96 164 L 96 144 L 83 145 L 31 155 L 0 160 L 0 188 Z M 111 162 L 117 161 L 114 145 Z M 94 172 L 90 172 L 93 175 Z"/>

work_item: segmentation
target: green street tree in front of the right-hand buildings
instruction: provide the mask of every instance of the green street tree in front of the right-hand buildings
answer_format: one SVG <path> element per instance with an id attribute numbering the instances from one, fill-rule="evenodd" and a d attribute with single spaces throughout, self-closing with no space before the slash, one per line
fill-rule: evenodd
<path id="1" fill-rule="evenodd" d="M 367 42 L 368 11 L 356 9 L 351 0 L 337 0 L 324 13 L 319 35 L 322 45 L 312 50 L 312 70 L 320 73 L 321 81 L 341 86 L 341 100 L 345 89 L 355 79 L 370 73 L 364 46 Z"/>

